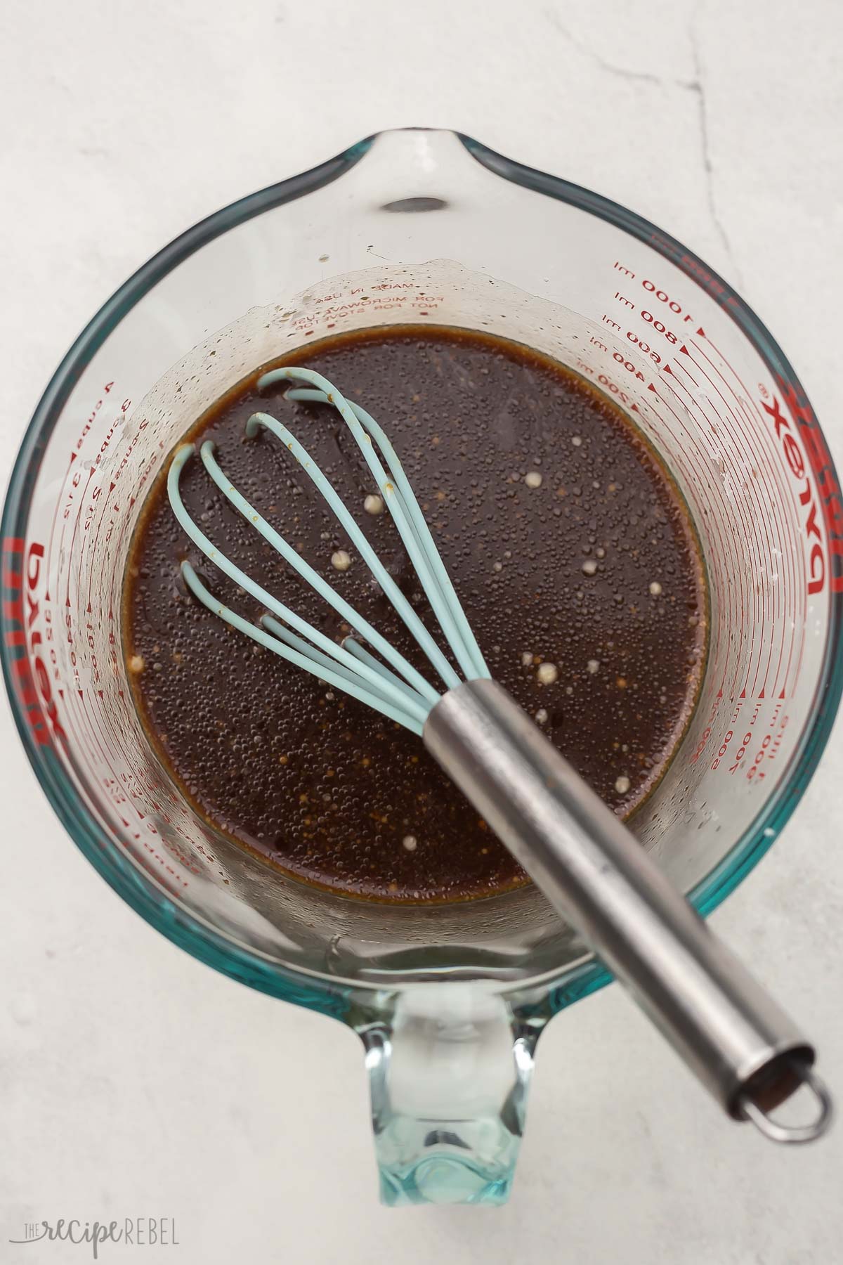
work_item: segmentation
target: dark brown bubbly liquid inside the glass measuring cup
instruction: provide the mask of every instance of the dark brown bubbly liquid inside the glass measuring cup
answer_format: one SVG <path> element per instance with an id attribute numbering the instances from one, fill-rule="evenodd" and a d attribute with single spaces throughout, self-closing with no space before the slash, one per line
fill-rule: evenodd
<path id="1" fill-rule="evenodd" d="M 579 378 L 485 335 L 380 330 L 287 363 L 318 369 L 380 421 L 492 674 L 618 813 L 631 812 L 681 737 L 705 653 L 695 538 L 647 445 Z M 284 386 L 258 395 L 254 378 L 241 383 L 195 434 L 216 441 L 244 496 L 435 681 L 283 445 L 265 433 L 244 439 L 252 412 L 283 419 L 434 626 L 389 515 L 363 510 L 375 488 L 341 419 L 284 401 Z M 330 636 L 348 631 L 201 462 L 188 462 L 181 486 L 238 565 Z M 351 554 L 349 571 L 331 565 L 336 549 Z M 221 601 L 259 617 L 187 541 L 159 482 L 133 543 L 126 653 L 143 660 L 131 679 L 153 741 L 202 815 L 286 872 L 356 896 L 454 901 L 526 880 L 418 737 L 230 630 L 187 593 L 183 558 Z M 538 682 L 541 662 L 556 665 L 552 684 Z"/>

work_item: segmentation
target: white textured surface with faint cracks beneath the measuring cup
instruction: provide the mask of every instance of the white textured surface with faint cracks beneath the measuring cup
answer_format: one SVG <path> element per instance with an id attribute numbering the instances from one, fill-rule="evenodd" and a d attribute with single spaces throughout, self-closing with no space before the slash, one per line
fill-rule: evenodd
<path id="1" fill-rule="evenodd" d="M 843 458 L 835 0 L 4 0 L 0 474 L 59 357 L 162 243 L 379 128 L 459 128 L 664 225 L 733 281 Z M 1 706 L 1 705 L 0 705 Z M 714 923 L 843 1101 L 838 725 Z M 617 989 L 554 1022 L 500 1211 L 375 1203 L 356 1039 L 234 984 L 72 846 L 0 713 L 0 1261 L 45 1217 L 172 1216 L 182 1265 L 837 1265 L 843 1127 L 729 1126 Z M 15 1255 L 16 1254 L 16 1255 Z"/>

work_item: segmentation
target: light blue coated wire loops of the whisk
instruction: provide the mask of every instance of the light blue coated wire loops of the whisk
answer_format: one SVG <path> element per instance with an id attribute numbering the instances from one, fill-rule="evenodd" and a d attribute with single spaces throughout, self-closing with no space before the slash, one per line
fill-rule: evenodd
<path id="1" fill-rule="evenodd" d="M 391 516 L 416 569 L 418 582 L 430 601 L 436 620 L 466 679 L 489 678 L 480 649 L 465 617 L 459 598 L 439 555 L 425 516 L 418 506 L 403 467 L 378 423 L 354 402 L 346 400 L 334 386 L 311 369 L 273 369 L 258 379 L 265 388 L 276 381 L 306 382 L 293 386 L 288 398 L 327 404 L 337 410 L 351 431 L 367 466 L 375 478 Z M 246 423 L 246 436 L 259 429 L 269 430 L 284 445 L 302 471 L 315 483 L 332 514 L 345 530 L 349 540 L 372 571 L 393 608 L 397 611 L 431 665 L 441 677 L 445 689 L 460 684 L 460 676 L 449 662 L 430 630 L 421 621 L 413 606 L 398 587 L 365 534 L 355 522 L 345 502 L 325 477 L 307 449 L 283 425 L 265 412 L 253 414 Z M 375 443 L 379 452 L 375 449 Z M 440 698 L 439 691 L 397 650 L 373 625 L 348 602 L 337 589 L 307 563 L 293 546 L 258 512 L 258 510 L 230 482 L 215 458 L 215 445 L 206 440 L 200 449 L 202 464 L 230 505 L 276 549 L 281 557 L 377 651 L 365 649 L 354 636 L 339 645 L 326 634 L 296 615 L 263 586 L 252 579 L 205 535 L 190 516 L 179 491 L 179 477 L 185 463 L 195 453 L 193 444 L 185 444 L 176 453 L 167 477 L 167 490 L 173 512 L 188 538 L 202 553 L 243 591 L 267 607 L 268 614 L 255 625 L 220 602 L 202 583 L 188 562 L 182 563 L 182 574 L 188 589 L 210 611 L 231 627 L 244 632 L 296 667 L 325 681 L 354 698 L 388 716 L 397 724 L 422 732 L 431 708 Z M 382 463 L 385 460 L 387 469 Z M 380 655 L 378 658 L 377 655 Z M 385 660 L 385 662 L 382 662 Z"/>

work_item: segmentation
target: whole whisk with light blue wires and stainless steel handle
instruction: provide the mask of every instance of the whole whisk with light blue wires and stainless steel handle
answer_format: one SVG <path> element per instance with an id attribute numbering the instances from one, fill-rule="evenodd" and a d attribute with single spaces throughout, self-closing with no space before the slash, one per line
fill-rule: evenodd
<path id="1" fill-rule="evenodd" d="M 791 1020 L 709 931 L 647 856 L 627 826 L 585 784 L 514 700 L 492 679 L 470 624 L 402 464 L 378 423 L 306 368 L 278 368 L 264 390 L 287 381 L 287 398 L 334 407 L 354 436 L 417 573 L 449 658 L 402 593 L 316 462 L 267 412 L 253 414 L 246 436 L 274 435 L 312 481 L 420 645 L 440 688 L 327 583 L 226 477 L 206 440 L 200 459 L 234 509 L 354 630 L 341 644 L 321 632 L 241 571 L 187 512 L 179 492 L 195 444 L 171 463 L 167 488 L 178 522 L 195 545 L 267 614 L 253 624 L 225 606 L 182 563 L 193 596 L 239 632 L 418 734 L 426 748 L 487 820 L 551 904 L 583 935 L 685 1063 L 734 1120 L 767 1137 L 804 1142 L 830 1118 L 830 1099 L 813 1073 L 815 1051 Z M 340 567 L 348 554 L 336 555 Z M 365 644 L 364 644 L 365 643 Z M 456 667 L 455 667 L 456 664 Z M 770 1112 L 801 1085 L 816 1114 L 782 1125 Z"/>

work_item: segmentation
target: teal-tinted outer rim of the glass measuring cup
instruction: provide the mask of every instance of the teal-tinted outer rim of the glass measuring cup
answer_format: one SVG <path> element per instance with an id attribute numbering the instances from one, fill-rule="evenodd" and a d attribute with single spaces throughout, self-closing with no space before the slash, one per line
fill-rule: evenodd
<path id="1" fill-rule="evenodd" d="M 752 343 L 773 379 L 796 391 L 799 400 L 810 409 L 804 388 L 790 362 L 758 316 L 708 264 L 670 234 L 600 194 L 536 168 L 525 167 L 488 149 L 463 133 L 449 132 L 449 129 L 418 128 L 393 130 L 432 130 L 442 132 L 445 135 L 455 135 L 473 159 L 503 180 L 557 201 L 567 202 L 643 242 L 669 262 L 680 267 L 698 286 L 713 295 Z M 374 133 L 320 166 L 249 194 L 200 220 L 152 256 L 106 300 L 61 361 L 24 433 L 9 479 L 0 522 L 0 536 L 4 544 L 9 539 L 16 540 L 25 536 L 32 493 L 40 466 L 40 452 L 49 439 L 81 371 L 126 312 L 168 272 L 214 238 L 263 211 L 272 210 L 337 180 L 364 157 L 382 134 Z M 703 277 L 707 280 L 703 281 Z M 822 434 L 822 428 L 818 426 L 818 429 Z M 839 486 L 830 457 L 829 469 L 833 482 Z M 14 687 L 15 658 L 13 658 L 11 644 L 8 644 L 5 638 L 0 640 L 0 660 L 20 740 L 54 812 L 73 842 L 109 885 L 157 931 L 222 974 L 270 996 L 298 1002 L 336 1017 L 343 1017 L 350 994 L 354 993 L 359 998 L 361 994 L 383 988 L 382 983 L 354 982 L 348 984 L 340 979 L 331 980 L 324 975 L 310 974 L 303 968 L 283 965 L 226 936 L 198 915 L 188 912 L 171 899 L 152 875 L 145 874 L 115 846 L 109 832 L 86 808 L 58 759 L 54 754 L 51 758 L 52 748 L 35 743 Z M 796 750 L 790 758 L 785 777 L 741 839 L 688 893 L 689 899 L 703 916 L 715 910 L 746 878 L 789 821 L 823 754 L 842 691 L 843 592 L 839 592 L 832 593 L 825 655 L 810 716 L 800 735 Z M 535 993 L 537 987 L 545 987 L 549 993 L 549 1008 L 552 1012 L 595 992 L 610 979 L 609 973 L 598 961 L 588 959 L 541 977 L 502 982 L 500 990 L 517 993 L 521 989 L 528 989 Z"/>

